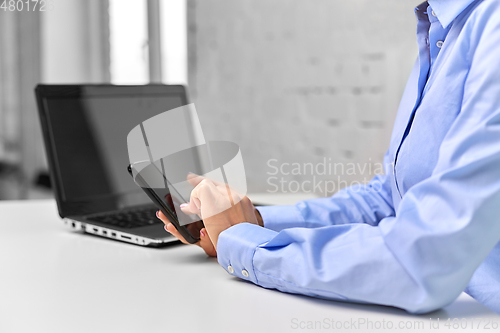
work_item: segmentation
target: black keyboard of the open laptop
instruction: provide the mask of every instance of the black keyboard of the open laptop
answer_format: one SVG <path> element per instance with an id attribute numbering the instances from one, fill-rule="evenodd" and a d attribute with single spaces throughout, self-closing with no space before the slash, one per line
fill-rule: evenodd
<path id="1" fill-rule="evenodd" d="M 157 208 L 142 208 L 137 210 L 105 213 L 88 217 L 90 221 L 113 225 L 123 229 L 139 228 L 148 225 L 162 224 L 156 218 Z"/>

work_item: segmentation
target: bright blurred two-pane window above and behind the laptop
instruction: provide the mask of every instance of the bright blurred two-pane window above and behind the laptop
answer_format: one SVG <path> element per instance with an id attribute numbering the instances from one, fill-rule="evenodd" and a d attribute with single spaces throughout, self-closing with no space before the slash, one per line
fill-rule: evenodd
<path id="1" fill-rule="evenodd" d="M 149 41 L 147 5 L 147 0 L 109 0 L 111 82 L 149 82 L 148 52 L 156 47 L 161 52 L 161 82 L 186 84 L 186 0 L 159 0 L 159 39 Z"/>

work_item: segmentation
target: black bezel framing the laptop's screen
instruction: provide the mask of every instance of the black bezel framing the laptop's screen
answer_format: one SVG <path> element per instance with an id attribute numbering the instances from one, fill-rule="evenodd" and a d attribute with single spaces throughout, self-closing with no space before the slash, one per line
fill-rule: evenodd
<path id="1" fill-rule="evenodd" d="M 49 172 L 51 177 L 54 196 L 57 201 L 59 215 L 61 217 L 74 217 L 98 212 L 119 209 L 118 201 L 121 195 L 110 195 L 102 198 L 85 198 L 82 200 L 66 200 L 64 196 L 61 170 L 57 162 L 57 151 L 55 140 L 52 135 L 50 112 L 47 109 L 47 99 L 50 98 L 89 98 L 99 96 L 148 96 L 148 95 L 176 95 L 182 100 L 182 104 L 188 104 L 186 88 L 182 85 L 111 85 L 111 84 L 85 84 L 85 85 L 37 85 L 35 95 L 38 104 L 38 113 L 42 127 L 42 135 Z M 125 165 L 124 168 L 127 166 Z M 123 194 L 125 195 L 125 194 Z"/>

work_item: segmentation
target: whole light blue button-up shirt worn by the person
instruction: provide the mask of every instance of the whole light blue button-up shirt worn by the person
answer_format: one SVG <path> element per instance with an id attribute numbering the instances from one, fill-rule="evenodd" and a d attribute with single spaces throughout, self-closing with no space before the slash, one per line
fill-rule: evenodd
<path id="1" fill-rule="evenodd" d="M 423 313 L 466 291 L 500 313 L 500 1 L 429 0 L 385 175 L 261 207 L 218 261 L 265 288 Z M 229 268 L 228 268 L 229 267 Z"/>

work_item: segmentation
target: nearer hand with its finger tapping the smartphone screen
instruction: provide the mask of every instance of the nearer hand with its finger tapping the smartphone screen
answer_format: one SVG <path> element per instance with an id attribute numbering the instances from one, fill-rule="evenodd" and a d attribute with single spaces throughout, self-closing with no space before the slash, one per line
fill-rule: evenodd
<path id="1" fill-rule="evenodd" d="M 203 220 L 215 250 L 220 233 L 231 226 L 243 222 L 263 225 L 250 199 L 227 184 L 192 173 L 188 175 L 188 181 L 194 189 L 189 203 L 182 204 L 181 210 L 188 215 L 197 214 Z"/>

